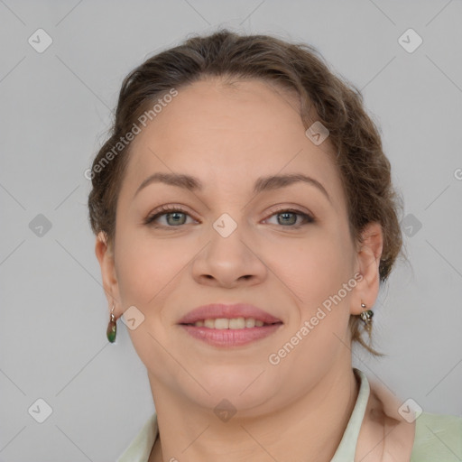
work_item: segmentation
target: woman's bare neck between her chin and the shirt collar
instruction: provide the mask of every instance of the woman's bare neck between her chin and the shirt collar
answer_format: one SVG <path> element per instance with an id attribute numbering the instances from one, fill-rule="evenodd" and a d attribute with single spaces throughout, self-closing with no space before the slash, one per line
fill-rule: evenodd
<path id="1" fill-rule="evenodd" d="M 328 371 L 308 393 L 252 419 L 221 422 L 150 376 L 159 432 L 149 462 L 330 461 L 355 407 L 359 384 L 351 363 Z"/>

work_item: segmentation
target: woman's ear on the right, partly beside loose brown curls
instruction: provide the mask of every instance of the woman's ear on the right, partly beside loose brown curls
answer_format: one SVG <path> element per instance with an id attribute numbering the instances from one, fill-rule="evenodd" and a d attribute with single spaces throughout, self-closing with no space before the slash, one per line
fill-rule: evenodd
<path id="1" fill-rule="evenodd" d="M 377 299 L 380 290 L 380 257 L 383 250 L 382 226 L 379 223 L 369 223 L 364 232 L 361 248 L 357 253 L 356 273 L 361 276 L 356 278 L 356 288 L 353 291 L 351 314 L 360 314 L 363 310 L 361 303 L 367 309 L 371 309 Z"/>

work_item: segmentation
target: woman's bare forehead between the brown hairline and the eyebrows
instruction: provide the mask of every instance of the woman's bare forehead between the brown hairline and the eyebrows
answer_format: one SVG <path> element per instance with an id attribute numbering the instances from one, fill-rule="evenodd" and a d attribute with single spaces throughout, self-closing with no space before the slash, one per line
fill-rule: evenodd
<path id="1" fill-rule="evenodd" d="M 306 136 L 298 96 L 257 79 L 180 88 L 134 139 L 123 189 L 134 191 L 155 171 L 190 174 L 221 189 L 248 182 L 249 190 L 257 177 L 302 172 L 331 197 L 341 195 L 328 141 L 316 146 Z"/>

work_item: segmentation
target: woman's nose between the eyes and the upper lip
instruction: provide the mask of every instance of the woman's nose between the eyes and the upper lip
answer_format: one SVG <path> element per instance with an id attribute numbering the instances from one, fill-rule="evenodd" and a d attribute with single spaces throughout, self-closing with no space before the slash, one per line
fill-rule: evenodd
<path id="1" fill-rule="evenodd" d="M 261 249 L 248 233 L 245 235 L 243 226 L 228 236 L 217 229 L 211 230 L 208 245 L 192 263 L 196 282 L 227 289 L 263 282 L 268 268 L 259 255 Z"/>

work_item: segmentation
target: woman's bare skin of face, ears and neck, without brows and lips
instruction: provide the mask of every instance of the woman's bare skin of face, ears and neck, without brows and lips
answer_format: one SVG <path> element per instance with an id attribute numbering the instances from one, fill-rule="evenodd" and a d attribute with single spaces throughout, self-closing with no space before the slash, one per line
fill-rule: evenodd
<path id="1" fill-rule="evenodd" d="M 143 323 L 128 331 L 147 368 L 162 435 L 150 462 L 266 462 L 269 454 L 280 462 L 328 461 L 347 426 L 358 393 L 348 319 L 362 302 L 374 305 L 383 236 L 371 223 L 361 247 L 352 241 L 328 141 L 310 141 L 298 105 L 260 80 L 229 86 L 209 78 L 180 88 L 132 143 L 115 240 L 106 245 L 97 236 L 96 254 L 109 310 L 115 301 L 117 318 L 132 305 L 143 312 Z M 191 192 L 152 183 L 134 198 L 154 172 L 193 175 L 205 186 Z M 319 180 L 331 201 L 304 182 L 252 191 L 260 176 L 300 172 Z M 164 204 L 186 208 L 188 215 L 177 217 L 185 224 L 164 215 L 161 227 L 144 225 Z M 281 216 L 287 208 L 316 221 L 293 229 L 297 216 Z M 237 225 L 226 238 L 212 226 L 223 213 Z M 361 282 L 270 364 L 268 356 L 355 273 Z M 199 305 L 239 301 L 282 319 L 282 328 L 226 349 L 177 325 Z M 226 422 L 213 412 L 224 398 L 237 411 Z"/>

